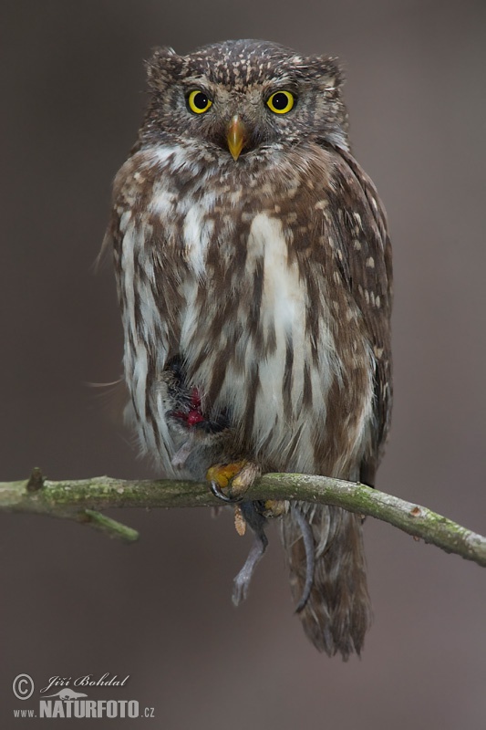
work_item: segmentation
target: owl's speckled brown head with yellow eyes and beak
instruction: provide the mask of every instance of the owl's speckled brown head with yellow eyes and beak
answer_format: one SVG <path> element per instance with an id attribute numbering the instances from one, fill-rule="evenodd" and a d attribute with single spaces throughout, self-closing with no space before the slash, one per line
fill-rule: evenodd
<path id="1" fill-rule="evenodd" d="M 159 48 L 147 69 L 142 145 L 198 141 L 234 161 L 305 141 L 347 149 L 343 78 L 333 58 L 237 40 L 188 56 Z"/>

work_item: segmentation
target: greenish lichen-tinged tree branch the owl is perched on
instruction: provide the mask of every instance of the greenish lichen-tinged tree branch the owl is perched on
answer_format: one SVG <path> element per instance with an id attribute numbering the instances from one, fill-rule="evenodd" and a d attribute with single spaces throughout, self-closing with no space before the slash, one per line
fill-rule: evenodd
<path id="1" fill-rule="evenodd" d="M 405 502 L 366 485 L 326 476 L 265 474 L 245 499 L 286 499 L 344 507 L 358 515 L 381 519 L 416 538 L 486 567 L 486 537 L 437 515 L 427 507 Z M 207 483 L 190 481 L 126 481 L 99 476 L 51 482 L 38 469 L 30 478 L 0 483 L 0 510 L 74 519 L 133 541 L 138 534 L 98 510 L 113 507 L 221 506 Z"/>

